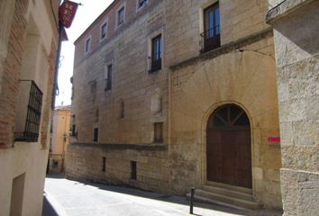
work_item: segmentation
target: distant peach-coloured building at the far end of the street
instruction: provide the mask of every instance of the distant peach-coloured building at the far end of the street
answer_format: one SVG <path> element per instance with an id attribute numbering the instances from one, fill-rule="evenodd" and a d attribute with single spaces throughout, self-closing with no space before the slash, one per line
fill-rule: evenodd
<path id="1" fill-rule="evenodd" d="M 70 118 L 70 106 L 59 106 L 54 109 L 49 154 L 50 173 L 62 173 L 65 171 L 65 156 L 69 143 Z"/>

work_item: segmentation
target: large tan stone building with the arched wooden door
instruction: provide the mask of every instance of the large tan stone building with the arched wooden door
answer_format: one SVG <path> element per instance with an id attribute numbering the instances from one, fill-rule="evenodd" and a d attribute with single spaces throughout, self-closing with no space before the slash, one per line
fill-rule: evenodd
<path id="1" fill-rule="evenodd" d="M 282 208 L 267 12 L 266 0 L 115 0 L 75 41 L 68 178 Z"/>

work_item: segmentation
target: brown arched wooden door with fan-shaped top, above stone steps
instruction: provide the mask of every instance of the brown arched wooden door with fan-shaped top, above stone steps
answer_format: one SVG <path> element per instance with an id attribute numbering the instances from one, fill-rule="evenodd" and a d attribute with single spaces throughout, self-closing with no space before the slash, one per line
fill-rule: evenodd
<path id="1" fill-rule="evenodd" d="M 251 188 L 251 126 L 241 107 L 227 104 L 206 128 L 207 180 Z"/>

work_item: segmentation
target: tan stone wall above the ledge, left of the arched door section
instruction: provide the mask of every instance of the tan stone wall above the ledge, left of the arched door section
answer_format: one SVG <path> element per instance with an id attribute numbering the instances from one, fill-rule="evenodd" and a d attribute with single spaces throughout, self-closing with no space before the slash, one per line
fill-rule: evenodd
<path id="1" fill-rule="evenodd" d="M 132 6 L 136 9 L 135 4 Z M 114 10 L 116 8 L 114 6 Z M 139 12 L 143 14 L 136 14 L 87 56 L 76 58 L 72 112 L 77 141 L 93 142 L 94 129 L 98 128 L 99 143 L 152 143 L 154 122 L 163 122 L 164 142 L 167 141 L 167 66 L 164 60 L 161 70 L 150 73 L 148 58 L 152 37 L 162 34 L 165 40 L 163 9 L 162 1 L 150 1 L 145 11 Z M 112 15 L 108 16 L 109 20 Z M 96 24 L 96 28 L 99 27 Z M 97 31 L 89 32 L 87 35 L 92 38 L 99 37 Z M 84 41 L 77 41 L 77 55 Z M 105 68 L 110 64 L 113 65 L 112 89 L 105 91 Z M 161 98 L 161 111 L 154 112 L 154 97 Z"/>

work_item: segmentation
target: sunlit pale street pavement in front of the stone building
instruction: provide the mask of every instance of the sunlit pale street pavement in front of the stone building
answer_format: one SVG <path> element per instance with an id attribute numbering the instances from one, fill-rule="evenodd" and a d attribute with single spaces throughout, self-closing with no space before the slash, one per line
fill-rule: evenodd
<path id="1" fill-rule="evenodd" d="M 185 216 L 189 212 L 188 201 L 182 196 L 105 184 L 84 184 L 67 180 L 63 175 L 46 178 L 44 201 L 44 216 Z M 238 211 L 202 203 L 195 204 L 194 213 L 203 216 L 281 215 L 276 211 Z"/>

